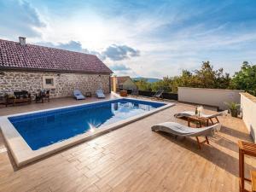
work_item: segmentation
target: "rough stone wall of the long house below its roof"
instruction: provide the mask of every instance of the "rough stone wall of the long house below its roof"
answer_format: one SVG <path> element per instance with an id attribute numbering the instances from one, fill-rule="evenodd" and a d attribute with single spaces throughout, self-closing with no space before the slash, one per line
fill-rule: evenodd
<path id="1" fill-rule="evenodd" d="M 55 88 L 50 89 L 50 97 L 73 96 L 73 90 L 95 94 L 99 88 L 109 93 L 109 75 L 106 74 L 1 71 L 0 94 L 15 90 L 28 90 L 34 94 L 44 88 L 43 76 L 53 76 L 55 79 Z"/>

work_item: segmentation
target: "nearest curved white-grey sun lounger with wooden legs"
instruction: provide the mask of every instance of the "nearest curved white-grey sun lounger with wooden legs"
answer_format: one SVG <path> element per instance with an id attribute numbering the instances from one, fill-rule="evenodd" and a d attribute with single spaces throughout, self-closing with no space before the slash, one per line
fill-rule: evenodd
<path id="1" fill-rule="evenodd" d="M 215 124 L 203 128 L 191 128 L 186 125 L 181 125 L 175 122 L 164 122 L 158 125 L 154 125 L 151 127 L 152 131 L 164 131 L 167 133 L 171 133 L 174 136 L 182 136 L 182 137 L 196 137 L 196 141 L 198 147 L 201 148 L 201 143 L 208 143 L 208 137 L 213 137 L 216 131 L 220 130 L 221 125 Z M 198 137 L 206 137 L 206 140 L 203 142 L 199 141 Z"/>

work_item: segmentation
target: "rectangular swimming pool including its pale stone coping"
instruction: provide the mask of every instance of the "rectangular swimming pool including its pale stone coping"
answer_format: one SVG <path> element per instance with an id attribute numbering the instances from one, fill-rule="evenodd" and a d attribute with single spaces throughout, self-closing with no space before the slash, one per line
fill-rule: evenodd
<path id="1" fill-rule="evenodd" d="M 5 116 L 0 127 L 20 166 L 171 106 L 119 98 Z"/>

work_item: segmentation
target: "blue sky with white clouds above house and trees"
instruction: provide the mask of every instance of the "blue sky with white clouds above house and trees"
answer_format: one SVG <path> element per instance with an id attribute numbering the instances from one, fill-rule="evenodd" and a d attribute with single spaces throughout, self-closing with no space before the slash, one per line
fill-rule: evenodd
<path id="1" fill-rule="evenodd" d="M 0 38 L 97 55 L 116 75 L 162 78 L 256 62 L 254 0 L 0 0 Z"/>

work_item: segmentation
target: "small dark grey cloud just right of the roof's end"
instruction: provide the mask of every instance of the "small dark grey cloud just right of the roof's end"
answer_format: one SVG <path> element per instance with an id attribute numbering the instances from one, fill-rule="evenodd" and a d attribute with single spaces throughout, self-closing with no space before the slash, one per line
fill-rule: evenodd
<path id="1" fill-rule="evenodd" d="M 131 57 L 139 56 L 140 51 L 127 45 L 113 44 L 104 50 L 102 55 L 112 61 L 122 61 Z"/>

